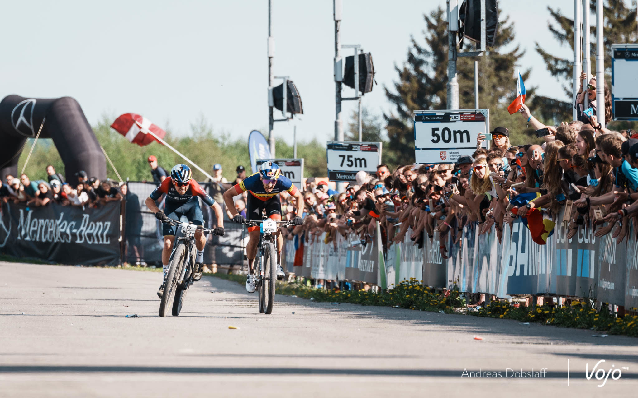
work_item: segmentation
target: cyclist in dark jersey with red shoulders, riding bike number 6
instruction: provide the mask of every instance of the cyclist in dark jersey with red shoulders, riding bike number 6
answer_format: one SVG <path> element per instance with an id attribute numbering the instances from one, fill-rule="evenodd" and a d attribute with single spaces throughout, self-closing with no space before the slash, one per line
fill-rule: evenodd
<path id="1" fill-rule="evenodd" d="M 166 194 L 164 211 L 159 210 L 155 201 L 161 197 L 161 194 Z M 215 203 L 204 188 L 200 187 L 197 181 L 193 180 L 193 171 L 185 164 L 178 164 L 170 171 L 170 177 L 165 178 L 151 195 L 146 198 L 145 204 L 149 210 L 155 213 L 155 217 L 158 220 L 167 220 L 172 218 L 173 220 L 179 220 L 180 217 L 185 216 L 189 222 L 195 225 L 204 225 L 204 216 L 199 206 L 197 197 L 200 197 L 202 201 L 211 206 L 215 212 L 217 219 L 217 226 L 213 233 L 216 235 L 224 234 L 224 218 L 221 212 L 221 206 Z M 173 250 L 173 243 L 175 241 L 175 227 L 173 225 L 162 223 L 162 232 L 164 236 L 164 246 L 161 250 L 161 264 L 164 270 L 164 277 L 168 274 L 168 262 L 170 260 L 170 253 Z M 200 280 L 202 278 L 202 262 L 204 262 L 204 245 L 206 244 L 206 237 L 200 230 L 195 231 L 195 247 L 197 248 L 197 258 L 195 259 L 195 269 L 197 270 L 193 274 L 194 280 Z M 158 296 L 161 297 L 164 292 L 164 282 L 159 287 Z"/>

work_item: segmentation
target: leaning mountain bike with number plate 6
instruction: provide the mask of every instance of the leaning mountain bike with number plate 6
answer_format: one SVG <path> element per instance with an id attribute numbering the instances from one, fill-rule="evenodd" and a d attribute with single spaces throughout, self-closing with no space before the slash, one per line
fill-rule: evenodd
<path id="1" fill-rule="evenodd" d="M 182 303 L 190 285 L 193 284 L 195 271 L 195 231 L 200 229 L 205 234 L 212 234 L 212 229 L 202 228 L 192 222 L 179 222 L 177 220 L 161 220 L 177 227 L 173 251 L 168 262 L 168 275 L 164 285 L 164 294 L 159 302 L 159 316 L 166 316 L 166 311 L 172 303 L 172 315 L 177 316 L 182 310 Z"/>

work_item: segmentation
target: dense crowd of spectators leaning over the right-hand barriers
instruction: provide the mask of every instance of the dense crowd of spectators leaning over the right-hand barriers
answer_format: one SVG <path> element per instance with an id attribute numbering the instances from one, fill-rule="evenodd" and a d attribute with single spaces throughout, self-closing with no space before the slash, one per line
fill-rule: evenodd
<path id="1" fill-rule="evenodd" d="M 288 239 L 299 235 L 308 241 L 325 232 L 329 243 L 352 233 L 366 244 L 380 222 L 386 248 L 406 236 L 422 247 L 438 231 L 440 240 L 427 245 L 438 245 L 447 258 L 448 234 L 458 241 L 468 223 L 477 223 L 480 234 L 494 227 L 502 241 L 505 224 L 535 211 L 555 224 L 567 221 L 568 238 L 579 225 L 591 227 L 595 236 L 612 233 L 618 241 L 627 239 L 630 223 L 638 231 L 638 134 L 609 131 L 596 115 L 551 126 L 538 122 L 525 105 L 519 112 L 539 135 L 546 134 L 544 142 L 512 146 L 509 130 L 496 127 L 489 148 L 486 134 L 479 134 L 477 150 L 456 164 L 392 170 L 380 164 L 376 175 L 360 171 L 345 192 L 308 178 L 304 224 L 287 231 Z M 282 197 L 283 215 L 292 218 L 295 201 Z"/>

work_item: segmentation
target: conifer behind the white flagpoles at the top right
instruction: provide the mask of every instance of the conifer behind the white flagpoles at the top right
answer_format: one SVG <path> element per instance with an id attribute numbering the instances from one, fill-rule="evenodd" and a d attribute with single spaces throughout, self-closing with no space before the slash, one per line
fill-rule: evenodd
<path id="1" fill-rule="evenodd" d="M 541 109 L 551 110 L 555 109 L 557 104 L 565 104 L 567 108 L 563 108 L 562 105 L 558 105 L 563 112 L 563 120 L 568 120 L 572 117 L 572 78 L 574 76 L 574 68 L 572 62 L 574 61 L 574 18 L 568 18 L 561 13 L 558 8 L 547 7 L 552 22 L 547 24 L 549 31 L 552 32 L 554 38 L 558 42 L 569 48 L 567 57 L 557 57 L 545 50 L 539 43 L 536 43 L 536 52 L 538 52 L 545 62 L 547 69 L 552 76 L 555 76 L 561 83 L 561 87 L 567 97 L 567 102 L 563 102 L 559 99 L 551 99 L 544 97 L 538 99 L 537 104 Z M 573 7 L 568 8 L 568 15 L 573 15 Z M 595 73 L 596 65 L 596 0 L 590 0 L 590 66 L 591 73 Z M 616 43 L 632 43 L 638 39 L 636 32 L 636 8 L 627 7 L 623 0 L 605 0 L 603 4 L 603 18 L 604 18 L 604 46 L 605 46 L 605 79 L 607 85 L 611 87 L 611 45 Z M 584 43 L 583 43 L 584 44 Z M 542 100 L 542 101 L 541 101 Z M 614 122 L 610 128 L 625 128 L 627 122 Z"/>

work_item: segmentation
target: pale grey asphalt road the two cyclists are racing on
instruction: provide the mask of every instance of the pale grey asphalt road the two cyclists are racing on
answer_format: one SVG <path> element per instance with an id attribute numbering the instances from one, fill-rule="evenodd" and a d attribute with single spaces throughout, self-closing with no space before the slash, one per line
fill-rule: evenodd
<path id="1" fill-rule="evenodd" d="M 256 294 L 212 277 L 191 287 L 182 315 L 159 318 L 159 278 L 0 262 L 0 397 L 630 397 L 638 390 L 635 338 L 284 296 L 272 315 L 260 315 Z M 585 371 L 601 359 L 596 369 L 621 376 L 597 387 L 602 381 Z M 546 373 L 512 377 L 521 369 Z"/>

